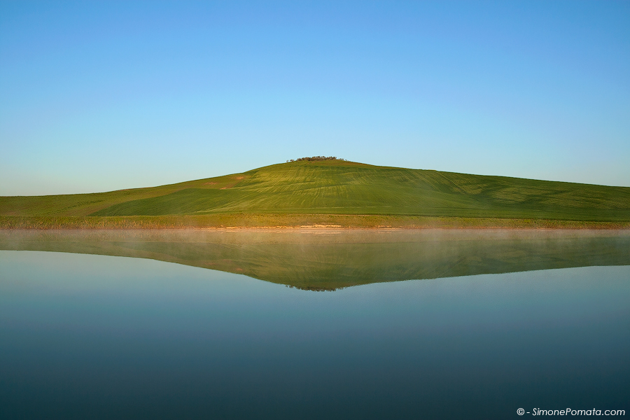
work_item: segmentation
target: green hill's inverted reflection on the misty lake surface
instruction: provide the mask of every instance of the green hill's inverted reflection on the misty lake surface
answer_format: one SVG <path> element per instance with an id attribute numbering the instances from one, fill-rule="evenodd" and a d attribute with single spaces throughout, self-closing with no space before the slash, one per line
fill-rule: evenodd
<path id="1" fill-rule="evenodd" d="M 332 290 L 381 281 L 630 265 L 630 232 L 0 231 L 0 249 L 151 258 Z"/>

